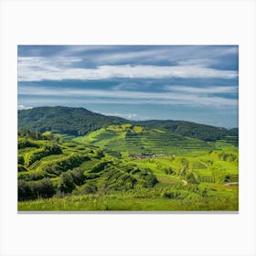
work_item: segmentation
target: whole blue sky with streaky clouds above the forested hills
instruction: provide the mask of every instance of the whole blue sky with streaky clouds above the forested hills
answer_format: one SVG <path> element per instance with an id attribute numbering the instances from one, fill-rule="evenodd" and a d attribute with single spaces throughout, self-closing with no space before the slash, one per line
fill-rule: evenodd
<path id="1" fill-rule="evenodd" d="M 18 109 L 238 127 L 238 46 L 18 46 Z"/>

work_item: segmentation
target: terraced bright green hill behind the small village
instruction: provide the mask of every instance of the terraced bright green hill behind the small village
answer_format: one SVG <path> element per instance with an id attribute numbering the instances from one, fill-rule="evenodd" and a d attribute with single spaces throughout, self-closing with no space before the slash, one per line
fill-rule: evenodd
<path id="1" fill-rule="evenodd" d="M 101 128 L 73 141 L 94 145 L 112 155 L 183 155 L 216 148 L 215 144 L 168 131 L 123 123 Z"/>

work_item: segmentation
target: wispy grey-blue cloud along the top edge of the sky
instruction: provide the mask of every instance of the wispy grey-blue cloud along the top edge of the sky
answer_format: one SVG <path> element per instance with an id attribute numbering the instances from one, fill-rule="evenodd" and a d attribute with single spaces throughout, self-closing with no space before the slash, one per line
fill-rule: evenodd
<path id="1" fill-rule="evenodd" d="M 238 54 L 237 46 L 67 46 L 61 56 L 80 55 L 97 63 L 120 63 L 133 60 L 215 59 Z"/>

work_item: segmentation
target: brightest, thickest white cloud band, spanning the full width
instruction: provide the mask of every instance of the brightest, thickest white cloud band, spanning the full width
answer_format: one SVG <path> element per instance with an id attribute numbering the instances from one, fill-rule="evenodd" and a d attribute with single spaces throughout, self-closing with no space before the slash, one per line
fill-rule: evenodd
<path id="1" fill-rule="evenodd" d="M 218 78 L 235 79 L 238 72 L 219 70 L 197 65 L 104 65 L 94 69 L 69 67 L 79 58 L 20 57 L 18 59 L 19 81 L 40 80 L 103 80 L 111 78 L 163 79 L 163 78 Z"/>

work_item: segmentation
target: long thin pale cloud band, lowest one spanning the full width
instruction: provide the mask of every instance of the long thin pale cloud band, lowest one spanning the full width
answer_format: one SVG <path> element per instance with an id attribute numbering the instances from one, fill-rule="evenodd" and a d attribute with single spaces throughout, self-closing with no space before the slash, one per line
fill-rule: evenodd
<path id="1" fill-rule="evenodd" d="M 187 94 L 184 92 L 144 92 L 144 91 L 111 91 L 89 89 L 54 89 L 47 87 L 22 86 L 19 88 L 20 96 L 44 97 L 86 97 L 92 101 L 105 99 L 109 103 L 156 103 L 156 104 L 186 104 L 186 105 L 213 105 L 235 106 L 236 99 L 225 99 L 207 95 Z M 87 100 L 86 100 L 87 101 Z M 104 100 L 103 100 L 104 101 Z"/>

